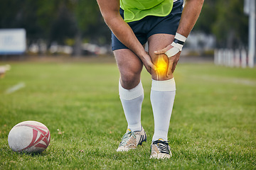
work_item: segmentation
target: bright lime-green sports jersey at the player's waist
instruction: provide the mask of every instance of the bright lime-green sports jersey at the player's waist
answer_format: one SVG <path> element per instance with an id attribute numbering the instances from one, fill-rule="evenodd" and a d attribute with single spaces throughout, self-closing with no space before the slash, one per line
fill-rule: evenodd
<path id="1" fill-rule="evenodd" d="M 138 21 L 145 16 L 167 16 L 174 0 L 120 0 L 124 10 L 124 21 Z"/>

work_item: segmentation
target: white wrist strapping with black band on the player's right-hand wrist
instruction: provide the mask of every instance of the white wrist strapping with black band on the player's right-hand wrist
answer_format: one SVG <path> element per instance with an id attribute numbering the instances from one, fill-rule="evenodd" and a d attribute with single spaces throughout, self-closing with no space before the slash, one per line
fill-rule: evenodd
<path id="1" fill-rule="evenodd" d="M 174 55 L 176 55 L 178 52 L 182 50 L 182 47 L 185 41 L 186 41 L 185 36 L 179 33 L 176 33 L 174 37 L 174 42 L 171 43 L 173 47 L 170 50 L 166 51 L 164 54 L 166 54 L 167 57 L 173 57 Z"/>

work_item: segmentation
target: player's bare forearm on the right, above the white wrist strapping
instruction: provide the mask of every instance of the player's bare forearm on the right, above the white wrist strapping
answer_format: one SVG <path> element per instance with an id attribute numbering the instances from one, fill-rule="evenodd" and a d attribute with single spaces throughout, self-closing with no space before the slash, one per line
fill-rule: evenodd
<path id="1" fill-rule="evenodd" d="M 186 0 L 177 33 L 188 37 L 201 13 L 202 6 L 203 0 Z"/>

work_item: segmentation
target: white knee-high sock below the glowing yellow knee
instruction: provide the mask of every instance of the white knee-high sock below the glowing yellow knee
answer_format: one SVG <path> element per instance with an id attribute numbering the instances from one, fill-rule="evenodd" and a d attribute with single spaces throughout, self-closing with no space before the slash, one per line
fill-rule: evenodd
<path id="1" fill-rule="evenodd" d="M 154 114 L 154 136 L 152 141 L 168 140 L 171 112 L 174 106 L 176 85 L 174 78 L 166 81 L 152 79 L 150 100 Z"/>

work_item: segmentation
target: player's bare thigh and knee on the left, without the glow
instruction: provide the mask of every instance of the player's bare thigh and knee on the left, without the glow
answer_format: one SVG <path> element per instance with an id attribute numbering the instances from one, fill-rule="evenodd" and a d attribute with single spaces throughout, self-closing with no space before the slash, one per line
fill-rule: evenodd
<path id="1" fill-rule="evenodd" d="M 122 87 L 133 89 L 140 81 L 142 60 L 129 49 L 114 50 L 114 57 L 120 72 Z"/>

